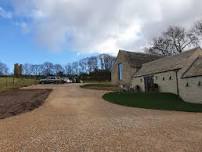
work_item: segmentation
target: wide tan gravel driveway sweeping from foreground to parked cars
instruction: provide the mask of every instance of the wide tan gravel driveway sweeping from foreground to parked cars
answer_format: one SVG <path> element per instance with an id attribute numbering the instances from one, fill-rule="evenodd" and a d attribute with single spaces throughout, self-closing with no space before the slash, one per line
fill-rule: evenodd
<path id="1" fill-rule="evenodd" d="M 201 152 L 202 114 L 122 107 L 104 91 L 47 85 L 40 108 L 0 120 L 0 151 Z"/>

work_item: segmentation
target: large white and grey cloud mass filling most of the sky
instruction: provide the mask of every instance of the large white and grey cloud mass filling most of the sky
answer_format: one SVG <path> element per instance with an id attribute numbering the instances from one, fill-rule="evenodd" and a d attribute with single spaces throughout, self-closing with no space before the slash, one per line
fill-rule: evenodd
<path id="1" fill-rule="evenodd" d="M 202 14 L 201 0 L 14 0 L 13 6 L 17 16 L 31 18 L 41 45 L 82 53 L 139 49 L 167 26 L 189 27 Z"/>

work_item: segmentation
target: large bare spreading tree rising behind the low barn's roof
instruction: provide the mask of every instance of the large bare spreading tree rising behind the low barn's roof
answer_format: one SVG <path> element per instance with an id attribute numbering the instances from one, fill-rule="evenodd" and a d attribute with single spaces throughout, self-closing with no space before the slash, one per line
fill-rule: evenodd
<path id="1" fill-rule="evenodd" d="M 173 55 L 182 53 L 186 48 L 197 46 L 198 38 L 192 30 L 186 31 L 179 26 L 170 26 L 161 36 L 154 38 L 150 53 Z"/>

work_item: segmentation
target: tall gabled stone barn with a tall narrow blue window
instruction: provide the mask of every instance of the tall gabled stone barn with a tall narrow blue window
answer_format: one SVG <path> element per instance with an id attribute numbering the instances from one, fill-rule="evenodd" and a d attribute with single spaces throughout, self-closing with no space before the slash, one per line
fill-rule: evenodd
<path id="1" fill-rule="evenodd" d="M 130 85 L 132 76 L 142 64 L 159 59 L 160 56 L 120 50 L 111 72 L 113 84 Z"/>

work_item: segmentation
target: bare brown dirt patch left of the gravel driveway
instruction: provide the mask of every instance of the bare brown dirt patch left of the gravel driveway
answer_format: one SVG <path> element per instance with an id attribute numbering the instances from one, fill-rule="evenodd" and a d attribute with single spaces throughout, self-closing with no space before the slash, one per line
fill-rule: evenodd
<path id="1" fill-rule="evenodd" d="M 0 92 L 0 119 L 39 107 L 50 92 L 49 89 L 15 89 Z"/>

